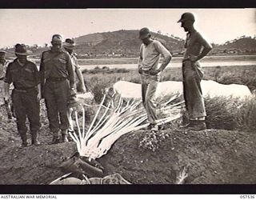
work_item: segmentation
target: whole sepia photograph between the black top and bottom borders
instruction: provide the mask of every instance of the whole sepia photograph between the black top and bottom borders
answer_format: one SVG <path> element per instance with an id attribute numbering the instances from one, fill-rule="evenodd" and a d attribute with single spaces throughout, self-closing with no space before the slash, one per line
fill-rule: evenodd
<path id="1" fill-rule="evenodd" d="M 1 185 L 256 183 L 256 9 L 0 9 L 0 24 Z"/>

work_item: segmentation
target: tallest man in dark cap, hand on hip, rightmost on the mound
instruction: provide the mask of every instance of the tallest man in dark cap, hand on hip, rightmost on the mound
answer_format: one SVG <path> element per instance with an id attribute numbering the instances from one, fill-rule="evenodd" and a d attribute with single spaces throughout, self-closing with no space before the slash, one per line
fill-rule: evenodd
<path id="1" fill-rule="evenodd" d="M 202 37 L 194 28 L 194 14 L 184 13 L 178 20 L 181 27 L 187 32 L 185 48 L 186 52 L 182 60 L 183 94 L 186 110 L 189 114 L 189 122 L 182 127 L 190 127 L 192 130 L 206 130 L 206 109 L 202 97 L 200 82 L 203 72 L 199 60 L 206 56 L 212 49 L 210 43 Z"/>

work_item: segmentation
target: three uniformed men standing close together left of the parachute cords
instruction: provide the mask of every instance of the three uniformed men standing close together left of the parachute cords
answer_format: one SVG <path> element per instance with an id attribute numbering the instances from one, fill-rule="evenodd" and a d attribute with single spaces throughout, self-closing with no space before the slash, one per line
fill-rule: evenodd
<path id="1" fill-rule="evenodd" d="M 11 98 L 22 146 L 28 145 L 26 118 L 30 122 L 31 144 L 40 145 L 38 130 L 41 98 L 46 102 L 52 142 L 67 142 L 68 103 L 70 97 L 76 94 L 75 74 L 78 74 L 78 80 L 82 84 L 82 92 L 86 91 L 82 73 L 72 52 L 74 41 L 66 39 L 63 49 L 62 36 L 54 34 L 51 44 L 51 49 L 42 53 L 39 70 L 34 62 L 27 60 L 27 56 L 32 52 L 26 50 L 25 45 L 17 44 L 14 52 L 17 58 L 7 66 L 3 78 L 6 101 L 10 98 L 10 84 L 14 85 Z"/>

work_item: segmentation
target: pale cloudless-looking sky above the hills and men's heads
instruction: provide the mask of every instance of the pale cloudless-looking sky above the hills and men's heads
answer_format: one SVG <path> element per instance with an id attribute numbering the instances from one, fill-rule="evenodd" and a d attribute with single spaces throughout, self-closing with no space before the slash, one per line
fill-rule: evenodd
<path id="1" fill-rule="evenodd" d="M 210 42 L 256 34 L 256 9 L 0 9 L 0 47 L 17 42 L 43 45 L 50 43 L 52 34 L 75 38 L 97 32 L 139 30 L 144 26 L 185 38 L 177 21 L 187 11 L 196 15 L 196 28 Z"/>

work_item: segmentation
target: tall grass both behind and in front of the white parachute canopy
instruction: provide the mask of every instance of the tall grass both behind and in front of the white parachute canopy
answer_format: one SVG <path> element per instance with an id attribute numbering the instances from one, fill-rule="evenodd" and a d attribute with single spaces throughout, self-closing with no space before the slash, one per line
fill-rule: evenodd
<path id="1" fill-rule="evenodd" d="M 242 84 L 256 89 L 255 66 L 214 66 L 205 67 L 205 80 L 214 80 L 222 84 Z M 119 80 L 140 83 L 137 70 L 96 68 L 86 70 L 84 79 L 88 90 L 94 93 L 96 102 L 101 102 L 106 87 L 113 86 Z M 161 82 L 182 81 L 182 69 L 170 68 L 162 73 Z M 206 98 L 207 126 L 213 129 L 256 131 L 256 101 L 245 100 L 237 104 L 236 99 Z M 238 109 L 238 105 L 240 108 Z M 241 106 L 242 105 L 242 106 Z"/>

